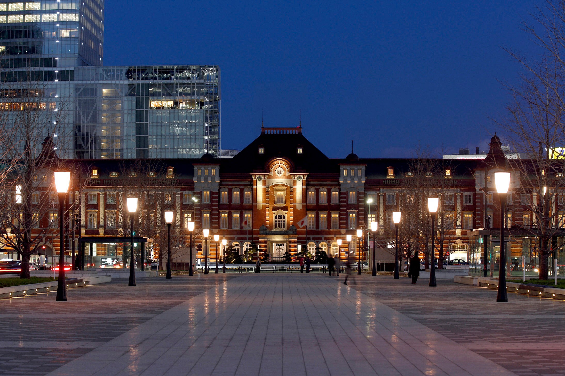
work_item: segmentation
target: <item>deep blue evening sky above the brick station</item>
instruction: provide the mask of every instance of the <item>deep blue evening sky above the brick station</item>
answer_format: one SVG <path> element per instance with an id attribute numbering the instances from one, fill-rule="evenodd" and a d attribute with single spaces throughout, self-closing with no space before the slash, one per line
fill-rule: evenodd
<path id="1" fill-rule="evenodd" d="M 107 0 L 105 65 L 219 64 L 224 149 L 297 126 L 329 157 L 471 152 L 505 113 L 534 0 Z M 488 134 L 486 134 L 488 132 Z"/>

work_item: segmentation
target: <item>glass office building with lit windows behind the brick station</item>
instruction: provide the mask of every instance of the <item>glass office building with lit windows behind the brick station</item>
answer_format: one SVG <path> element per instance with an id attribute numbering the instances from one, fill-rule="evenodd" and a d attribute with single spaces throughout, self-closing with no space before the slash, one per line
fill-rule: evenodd
<path id="1" fill-rule="evenodd" d="M 104 11 L 103 0 L 0 3 L 0 109 L 43 96 L 34 105 L 56 120 L 64 158 L 218 156 L 219 67 L 102 67 Z"/>

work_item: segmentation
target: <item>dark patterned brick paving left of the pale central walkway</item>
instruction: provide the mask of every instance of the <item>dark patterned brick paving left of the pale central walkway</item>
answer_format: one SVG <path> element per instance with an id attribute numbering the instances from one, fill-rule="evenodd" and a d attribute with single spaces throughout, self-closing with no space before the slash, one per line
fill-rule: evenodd
<path id="1" fill-rule="evenodd" d="M 114 280 L 68 290 L 68 302 L 55 302 L 55 292 L 0 300 L 0 375 L 50 373 L 237 276 L 138 279 L 134 287 Z"/>

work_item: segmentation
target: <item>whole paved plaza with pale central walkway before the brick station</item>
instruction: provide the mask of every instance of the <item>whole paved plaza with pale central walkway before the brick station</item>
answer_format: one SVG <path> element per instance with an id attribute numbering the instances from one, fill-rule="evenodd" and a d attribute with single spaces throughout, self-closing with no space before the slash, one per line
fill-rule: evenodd
<path id="1" fill-rule="evenodd" d="M 342 279 L 175 276 L 0 300 L 0 374 L 565 375 L 565 302 Z"/>

